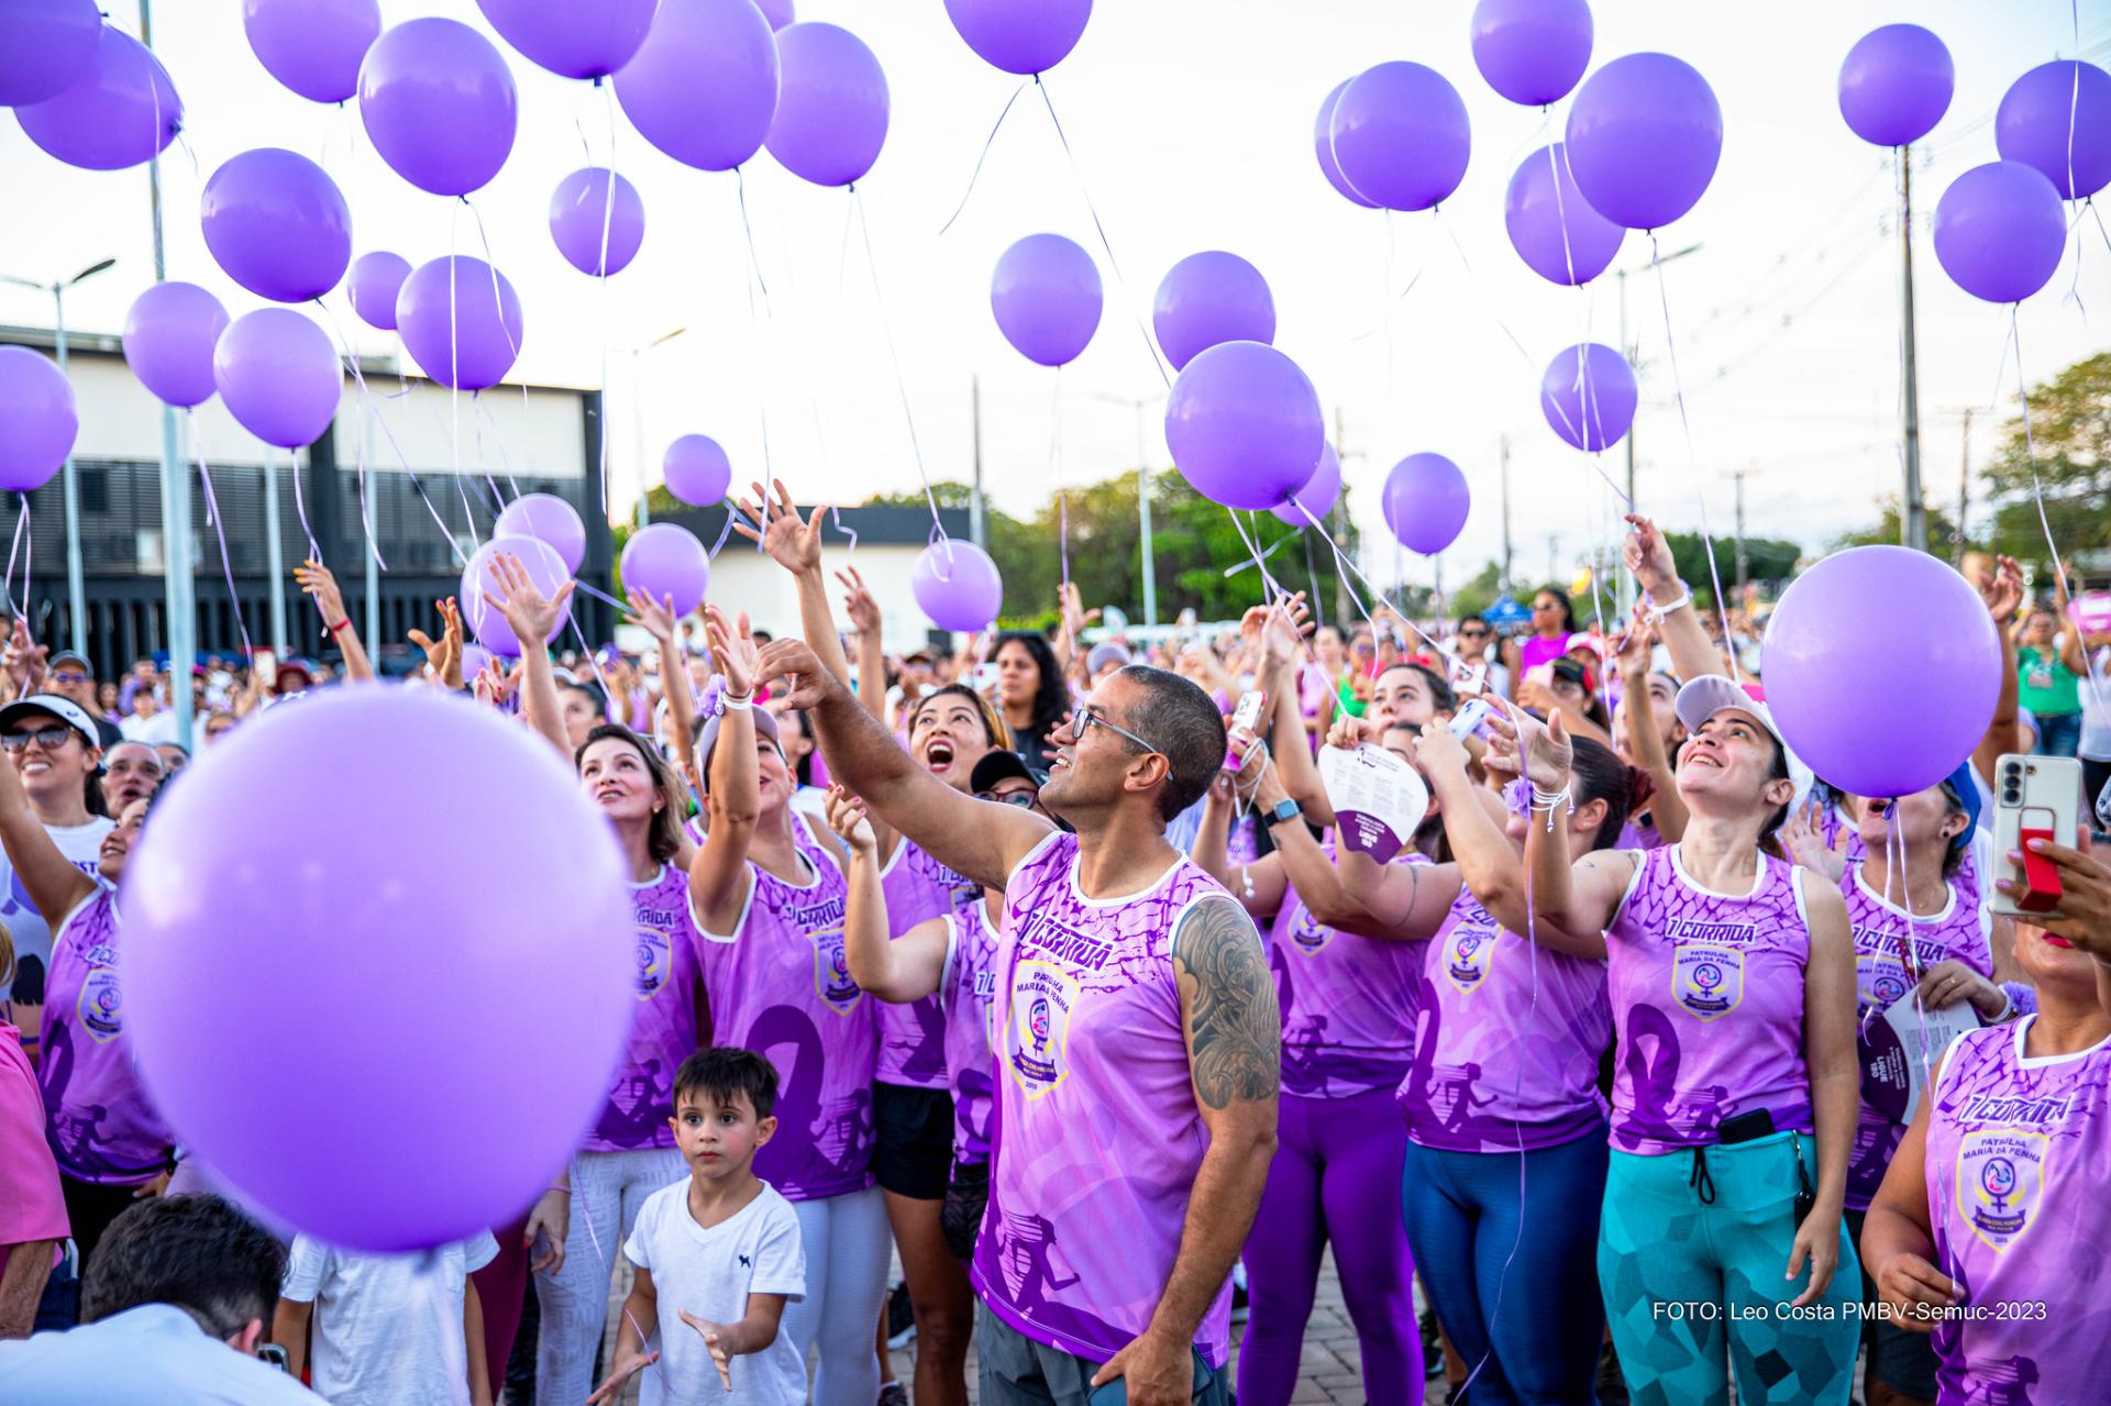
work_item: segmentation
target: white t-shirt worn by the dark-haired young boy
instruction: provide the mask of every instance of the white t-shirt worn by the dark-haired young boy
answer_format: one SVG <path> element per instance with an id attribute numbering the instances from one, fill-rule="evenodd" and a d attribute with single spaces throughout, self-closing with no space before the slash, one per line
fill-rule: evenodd
<path id="1" fill-rule="evenodd" d="M 682 1309 L 714 1324 L 747 1317 L 749 1294 L 806 1296 L 798 1214 L 775 1186 L 730 1220 L 705 1229 L 688 1214 L 688 1178 L 646 1197 L 623 1243 L 631 1265 L 652 1271 L 659 1294 L 659 1366 L 640 1374 L 642 1406 L 804 1406 L 806 1364 L 779 1328 L 760 1353 L 733 1360 L 733 1391 L 718 1381 L 703 1334 Z"/>

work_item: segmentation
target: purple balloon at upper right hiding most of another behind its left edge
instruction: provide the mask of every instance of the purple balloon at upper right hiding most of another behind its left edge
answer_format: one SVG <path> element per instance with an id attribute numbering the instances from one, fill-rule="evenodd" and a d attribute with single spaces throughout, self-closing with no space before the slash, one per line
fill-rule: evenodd
<path id="1" fill-rule="evenodd" d="M 1459 91 L 1433 68 L 1366 68 L 1334 101 L 1334 160 L 1353 190 L 1387 209 L 1429 209 L 1465 179 L 1473 133 Z"/>

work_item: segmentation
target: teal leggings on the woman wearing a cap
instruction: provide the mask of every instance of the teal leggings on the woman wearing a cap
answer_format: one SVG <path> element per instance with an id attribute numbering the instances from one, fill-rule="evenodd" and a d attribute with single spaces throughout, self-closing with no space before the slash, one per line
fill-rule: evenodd
<path id="1" fill-rule="evenodd" d="M 1657 1157 L 1613 1148 L 1598 1229 L 1598 1288 L 1634 1406 L 1739 1402 L 1847 1406 L 1862 1273 L 1845 1222 L 1839 1267 L 1818 1303 L 1788 1305 L 1796 1148 L 1818 1174 L 1811 1134 L 1773 1134 Z M 1725 1353 L 1727 1345 L 1727 1353 Z"/>

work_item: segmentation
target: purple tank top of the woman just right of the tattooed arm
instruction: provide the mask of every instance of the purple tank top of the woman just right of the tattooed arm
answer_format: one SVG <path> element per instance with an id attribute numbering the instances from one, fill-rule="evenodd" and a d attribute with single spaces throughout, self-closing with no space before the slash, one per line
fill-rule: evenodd
<path id="1" fill-rule="evenodd" d="M 1332 857 L 1334 834 L 1321 844 Z M 1269 925 L 1269 971 L 1283 1013 L 1283 1094 L 1353 1098 L 1395 1087 L 1412 1053 L 1421 965 L 1419 944 L 1334 931 L 1313 920 L 1296 889 L 1283 889 Z"/>

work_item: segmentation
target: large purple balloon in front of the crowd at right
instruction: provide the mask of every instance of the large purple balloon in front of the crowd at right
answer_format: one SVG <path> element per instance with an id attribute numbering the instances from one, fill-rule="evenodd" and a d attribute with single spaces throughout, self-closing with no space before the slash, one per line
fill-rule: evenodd
<path id="1" fill-rule="evenodd" d="M 1856 547 L 1796 576 L 1767 621 L 1763 663 L 1782 737 L 1851 796 L 1942 781 L 1972 756 L 2001 692 L 2001 640 L 1978 591 L 1906 547 Z M 1902 678 L 1936 686 L 1902 709 Z"/>

